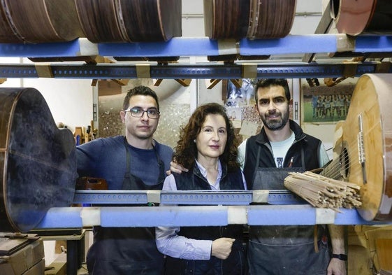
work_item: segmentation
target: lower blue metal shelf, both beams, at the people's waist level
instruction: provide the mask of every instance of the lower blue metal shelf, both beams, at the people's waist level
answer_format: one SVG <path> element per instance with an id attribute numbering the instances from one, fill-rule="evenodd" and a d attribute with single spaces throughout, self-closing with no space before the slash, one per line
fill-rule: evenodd
<path id="1" fill-rule="evenodd" d="M 140 206 L 159 202 L 157 207 Z M 77 190 L 73 203 L 88 207 L 52 208 L 36 229 L 184 225 L 377 225 L 356 209 L 319 209 L 287 190 L 254 191 L 134 191 Z M 256 204 L 255 204 L 256 203 Z M 103 206 L 103 205 L 107 206 Z M 115 206 L 110 206 L 113 204 Z M 122 206 L 119 206 L 122 204 Z M 130 204 L 138 204 L 130 206 Z M 182 206 L 173 206 L 181 204 Z M 187 204 L 191 204 L 190 206 Z M 98 206 L 99 205 L 99 206 Z"/>

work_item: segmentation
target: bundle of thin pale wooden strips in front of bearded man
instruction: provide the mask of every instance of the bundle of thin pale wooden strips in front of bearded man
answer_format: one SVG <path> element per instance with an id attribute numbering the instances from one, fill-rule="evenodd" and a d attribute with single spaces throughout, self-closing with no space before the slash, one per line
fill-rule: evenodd
<path id="1" fill-rule="evenodd" d="M 351 209 L 362 204 L 358 185 L 309 171 L 289 173 L 289 176 L 284 179 L 284 186 L 312 206 L 319 208 L 338 211 L 341 207 Z"/>

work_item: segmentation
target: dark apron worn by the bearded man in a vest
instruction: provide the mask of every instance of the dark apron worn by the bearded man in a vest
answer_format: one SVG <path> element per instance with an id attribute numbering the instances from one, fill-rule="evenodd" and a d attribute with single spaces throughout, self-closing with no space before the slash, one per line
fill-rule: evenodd
<path id="1" fill-rule="evenodd" d="M 289 171 L 305 171 L 303 167 L 259 167 L 259 148 L 254 171 L 253 190 L 282 190 Z M 315 230 L 316 228 L 316 230 Z M 315 240 L 317 234 L 317 240 Z M 250 275 L 325 275 L 329 264 L 325 226 L 273 225 L 249 227 L 248 261 Z M 317 241 L 318 252 L 314 242 Z"/>

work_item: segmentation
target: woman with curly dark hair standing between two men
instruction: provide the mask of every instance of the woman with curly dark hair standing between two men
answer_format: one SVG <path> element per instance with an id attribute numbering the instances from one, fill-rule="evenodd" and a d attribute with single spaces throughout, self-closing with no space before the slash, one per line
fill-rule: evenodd
<path id="1" fill-rule="evenodd" d="M 199 106 L 173 154 L 188 171 L 166 177 L 163 190 L 245 190 L 237 146 L 225 108 Z M 242 230 L 242 225 L 157 227 L 157 247 L 167 255 L 165 274 L 244 274 Z"/>

